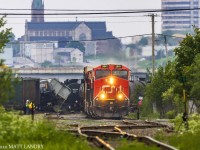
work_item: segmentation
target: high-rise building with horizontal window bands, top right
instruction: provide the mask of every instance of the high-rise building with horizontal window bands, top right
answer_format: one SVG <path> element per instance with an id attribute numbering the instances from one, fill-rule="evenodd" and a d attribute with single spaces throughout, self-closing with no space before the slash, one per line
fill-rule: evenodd
<path id="1" fill-rule="evenodd" d="M 192 31 L 193 25 L 199 27 L 199 0 L 162 0 L 161 5 L 163 10 L 173 10 L 162 12 L 162 31 Z"/>

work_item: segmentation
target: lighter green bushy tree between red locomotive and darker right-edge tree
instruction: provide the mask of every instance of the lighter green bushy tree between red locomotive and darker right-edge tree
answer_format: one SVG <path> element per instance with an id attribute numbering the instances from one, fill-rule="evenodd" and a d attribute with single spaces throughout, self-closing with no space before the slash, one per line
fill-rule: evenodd
<path id="1" fill-rule="evenodd" d="M 168 114 L 166 113 L 172 110 L 175 110 L 175 115 L 182 112 L 183 89 L 182 84 L 177 81 L 175 76 L 174 62 L 168 62 L 165 67 L 157 69 L 155 75 L 151 78 L 151 83 L 146 86 L 145 99 L 148 102 L 144 103 L 142 110 L 152 110 L 148 107 L 152 107 L 154 104 L 158 113 L 160 113 L 160 117 L 167 117 Z"/>

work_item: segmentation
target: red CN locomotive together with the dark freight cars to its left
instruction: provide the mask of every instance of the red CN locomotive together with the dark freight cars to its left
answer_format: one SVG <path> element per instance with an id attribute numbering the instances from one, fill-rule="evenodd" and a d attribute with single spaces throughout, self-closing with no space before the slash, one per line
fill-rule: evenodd
<path id="1" fill-rule="evenodd" d="M 109 64 L 84 67 L 83 79 L 66 79 L 64 83 L 57 79 L 20 78 L 14 86 L 15 96 L 5 106 L 23 109 L 29 99 L 39 111 L 84 111 L 92 118 L 121 118 L 129 110 L 137 110 L 135 100 L 130 98 L 141 84 L 136 77 L 123 65 Z"/>

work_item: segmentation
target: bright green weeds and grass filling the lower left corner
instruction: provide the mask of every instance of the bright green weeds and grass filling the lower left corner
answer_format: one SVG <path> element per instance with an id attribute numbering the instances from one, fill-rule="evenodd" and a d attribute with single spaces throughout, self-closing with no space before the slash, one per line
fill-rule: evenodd
<path id="1" fill-rule="evenodd" d="M 50 122 L 34 121 L 5 112 L 0 107 L 0 143 L 3 145 L 42 145 L 44 150 L 92 148 L 86 139 L 77 138 L 67 132 L 55 130 Z"/>

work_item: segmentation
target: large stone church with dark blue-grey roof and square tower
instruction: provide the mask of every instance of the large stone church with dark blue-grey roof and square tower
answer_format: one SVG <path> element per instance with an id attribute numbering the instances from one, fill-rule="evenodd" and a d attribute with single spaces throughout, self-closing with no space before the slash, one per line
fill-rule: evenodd
<path id="1" fill-rule="evenodd" d="M 43 0 L 33 0 L 31 10 L 31 21 L 25 23 L 23 42 L 57 41 L 58 48 L 64 48 L 67 42 L 80 41 L 86 48 L 85 55 L 96 55 L 102 53 L 101 45 L 109 46 L 110 41 L 103 39 L 115 38 L 107 31 L 105 22 L 45 21 Z"/>

